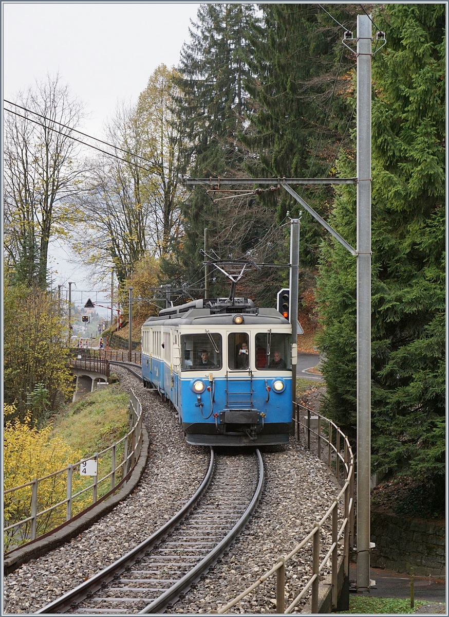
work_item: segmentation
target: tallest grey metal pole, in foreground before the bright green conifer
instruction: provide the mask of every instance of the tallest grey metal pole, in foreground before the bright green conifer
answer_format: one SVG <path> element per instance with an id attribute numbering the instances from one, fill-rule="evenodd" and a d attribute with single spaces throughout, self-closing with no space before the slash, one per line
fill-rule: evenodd
<path id="1" fill-rule="evenodd" d="M 369 591 L 371 479 L 371 20 L 357 17 L 357 590 Z"/>

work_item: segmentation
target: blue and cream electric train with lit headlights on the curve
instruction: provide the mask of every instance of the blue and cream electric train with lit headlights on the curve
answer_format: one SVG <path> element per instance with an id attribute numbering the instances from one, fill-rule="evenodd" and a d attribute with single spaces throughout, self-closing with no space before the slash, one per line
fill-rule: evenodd
<path id="1" fill-rule="evenodd" d="M 292 327 L 252 300 L 194 300 L 142 326 L 142 379 L 195 445 L 273 445 L 292 428 Z"/>

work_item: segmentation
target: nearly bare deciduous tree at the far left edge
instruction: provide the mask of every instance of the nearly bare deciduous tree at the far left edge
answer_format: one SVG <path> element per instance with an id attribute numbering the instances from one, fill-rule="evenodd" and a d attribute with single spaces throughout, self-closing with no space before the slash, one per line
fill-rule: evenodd
<path id="1" fill-rule="evenodd" d="M 83 104 L 59 75 L 47 75 L 15 103 L 5 114 L 4 250 L 18 280 L 44 288 L 49 243 L 67 235 L 76 218 L 72 198 L 84 168 L 71 128 Z"/>

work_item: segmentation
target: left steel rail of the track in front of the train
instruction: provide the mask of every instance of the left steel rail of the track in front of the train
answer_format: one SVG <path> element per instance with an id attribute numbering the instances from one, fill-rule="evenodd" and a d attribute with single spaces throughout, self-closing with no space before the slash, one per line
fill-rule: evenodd
<path id="1" fill-rule="evenodd" d="M 52 613 L 64 613 L 70 607 L 72 607 L 73 603 L 81 602 L 88 595 L 93 594 L 97 589 L 100 589 L 105 582 L 112 581 L 116 574 L 121 574 L 125 571 L 127 566 L 135 563 L 139 557 L 142 557 L 148 550 L 152 549 L 155 544 L 160 542 L 163 537 L 167 536 L 168 532 L 176 527 L 179 521 L 183 520 L 183 518 L 192 510 L 192 508 L 196 505 L 197 501 L 202 497 L 205 490 L 208 487 L 213 475 L 213 469 L 215 466 L 215 454 L 213 448 L 210 449 L 210 463 L 207 470 L 207 473 L 204 476 L 204 479 L 197 489 L 196 493 L 191 497 L 191 499 L 179 510 L 174 516 L 171 517 L 167 523 L 163 524 L 163 526 L 158 529 L 152 536 L 143 540 L 140 544 L 134 547 L 133 550 L 120 557 L 117 561 L 107 566 L 107 568 L 102 569 L 97 574 L 94 574 L 88 581 L 85 581 L 75 587 L 74 589 L 68 591 L 66 594 L 62 595 L 60 598 L 57 598 L 53 602 L 50 602 L 43 608 L 36 611 L 35 615 L 48 615 Z"/>

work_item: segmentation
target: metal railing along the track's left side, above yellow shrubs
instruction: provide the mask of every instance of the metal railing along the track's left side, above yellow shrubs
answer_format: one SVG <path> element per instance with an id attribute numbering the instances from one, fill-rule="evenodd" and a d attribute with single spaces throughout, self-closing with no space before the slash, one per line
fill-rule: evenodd
<path id="1" fill-rule="evenodd" d="M 96 503 L 99 499 L 99 487 L 105 491 L 105 494 L 101 495 L 101 499 L 113 494 L 123 479 L 126 478 L 126 475 L 133 469 L 139 458 L 141 447 L 142 407 L 139 399 L 131 390 L 130 431 L 122 439 L 101 452 L 95 452 L 91 457 L 67 465 L 62 470 L 54 471 L 47 476 L 33 479 L 26 484 L 3 492 L 3 503 L 6 511 L 6 526 L 3 528 L 3 533 L 6 550 L 15 549 L 19 545 L 22 546 L 35 540 L 36 537 L 59 527 L 60 524 L 64 523 L 64 518 L 65 521 L 70 521 L 73 516 L 91 507 L 91 504 Z M 86 460 L 96 461 L 97 470 L 103 475 L 101 477 L 98 474 L 92 476 L 93 479 L 91 483 L 89 481 L 88 486 L 84 486 L 87 478 L 83 478 L 83 486 L 80 487 L 80 480 L 75 481 L 75 473 L 77 469 L 81 470 L 81 464 Z M 109 483 L 105 484 L 108 480 L 110 488 L 107 488 Z M 73 485 L 75 485 L 75 492 L 72 491 Z M 39 499 L 39 487 L 41 499 Z M 64 489 L 66 496 L 64 499 L 59 499 L 61 490 L 64 491 Z M 59 501 L 39 510 L 42 503 L 48 502 L 49 499 L 52 500 L 52 492 L 56 494 Z M 89 492 L 91 492 L 91 498 Z M 80 499 L 81 496 L 83 496 L 82 499 Z M 12 522 L 10 517 L 9 520 L 6 520 L 8 509 L 14 510 L 15 507 L 22 513 L 25 511 L 28 516 L 16 522 Z"/>

